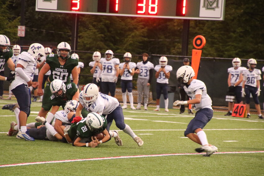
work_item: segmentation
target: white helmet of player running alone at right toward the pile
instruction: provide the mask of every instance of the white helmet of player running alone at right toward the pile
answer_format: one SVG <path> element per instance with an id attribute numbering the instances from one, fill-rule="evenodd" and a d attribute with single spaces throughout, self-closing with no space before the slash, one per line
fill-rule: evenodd
<path id="1" fill-rule="evenodd" d="M 194 70 L 189 65 L 181 66 L 176 73 L 177 81 L 181 84 L 187 85 L 188 81 L 195 76 Z"/>

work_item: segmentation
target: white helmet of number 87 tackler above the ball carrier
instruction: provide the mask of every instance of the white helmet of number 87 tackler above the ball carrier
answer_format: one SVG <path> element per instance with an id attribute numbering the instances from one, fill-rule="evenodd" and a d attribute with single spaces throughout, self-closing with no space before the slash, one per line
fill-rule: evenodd
<path id="1" fill-rule="evenodd" d="M 99 95 L 99 89 L 96 84 L 89 83 L 84 86 L 83 100 L 87 106 L 95 102 L 98 95 Z"/>

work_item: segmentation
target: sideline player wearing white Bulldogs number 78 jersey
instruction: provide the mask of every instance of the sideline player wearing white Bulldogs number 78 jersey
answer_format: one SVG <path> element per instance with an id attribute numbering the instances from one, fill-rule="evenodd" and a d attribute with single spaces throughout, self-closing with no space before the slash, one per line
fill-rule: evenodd
<path id="1" fill-rule="evenodd" d="M 96 81 L 99 82 L 100 76 L 102 76 L 102 93 L 108 95 L 110 92 L 111 96 L 115 97 L 120 61 L 117 58 L 113 58 L 113 56 L 114 53 L 111 50 L 105 52 L 105 58 L 100 60 L 101 65 Z"/>

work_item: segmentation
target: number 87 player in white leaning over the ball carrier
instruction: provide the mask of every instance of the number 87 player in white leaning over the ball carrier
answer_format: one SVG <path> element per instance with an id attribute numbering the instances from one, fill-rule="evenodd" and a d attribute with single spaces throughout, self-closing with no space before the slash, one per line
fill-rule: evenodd
<path id="1" fill-rule="evenodd" d="M 80 116 L 81 110 L 84 108 L 86 111 L 95 112 L 107 117 L 107 130 L 115 120 L 116 127 L 123 130 L 130 135 L 139 147 L 143 145 L 143 141 L 132 131 L 130 126 L 125 124 L 122 107 L 118 100 L 103 93 L 99 93 L 98 87 L 95 84 L 89 83 L 84 86 L 83 91 L 80 93 L 79 106 L 76 110 L 76 116 Z M 119 136 L 114 137 L 118 146 L 122 146 L 122 141 Z"/>

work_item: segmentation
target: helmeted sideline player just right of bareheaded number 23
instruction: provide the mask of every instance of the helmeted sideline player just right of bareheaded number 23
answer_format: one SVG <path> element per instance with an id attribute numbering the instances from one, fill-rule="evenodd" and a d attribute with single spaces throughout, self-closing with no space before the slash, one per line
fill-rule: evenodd
<path id="1" fill-rule="evenodd" d="M 154 111 L 160 110 L 160 96 L 162 92 L 165 102 L 165 111 L 169 112 L 168 87 L 169 87 L 169 78 L 171 75 L 170 72 L 172 71 L 172 66 L 167 65 L 167 63 L 168 63 L 167 57 L 161 56 L 159 59 L 159 65 L 156 65 L 154 67 L 154 70 L 156 71 L 155 77 L 157 78 L 157 86 L 156 86 L 157 108 L 154 109 Z"/>

